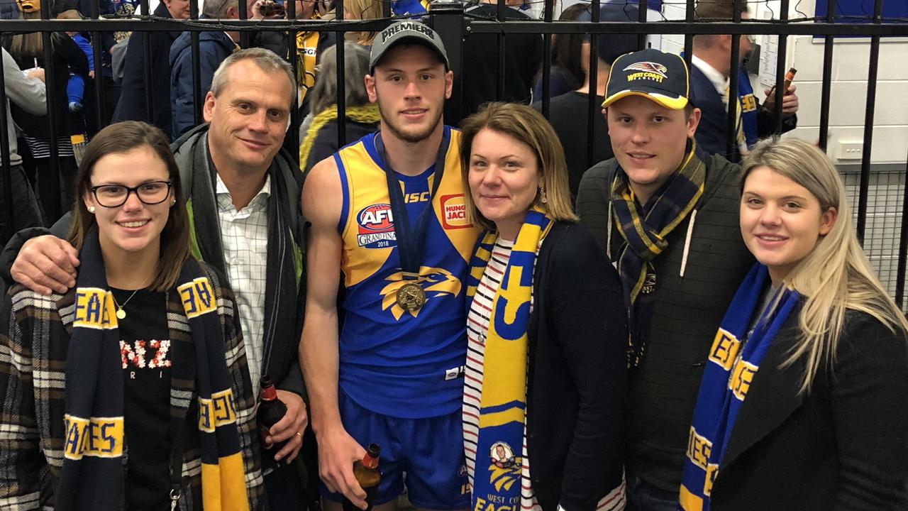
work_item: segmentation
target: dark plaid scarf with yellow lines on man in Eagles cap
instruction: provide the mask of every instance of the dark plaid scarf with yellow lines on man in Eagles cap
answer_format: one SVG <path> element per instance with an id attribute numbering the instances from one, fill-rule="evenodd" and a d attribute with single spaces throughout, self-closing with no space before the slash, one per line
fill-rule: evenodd
<path id="1" fill-rule="evenodd" d="M 618 166 L 612 182 L 612 211 L 624 245 L 617 258 L 617 270 L 630 306 L 628 366 L 637 366 L 646 349 L 653 312 L 656 269 L 652 261 L 668 247 L 666 237 L 694 209 L 703 195 L 706 165 L 696 154 L 696 142 L 675 174 L 660 192 L 638 205 L 627 174 Z"/>

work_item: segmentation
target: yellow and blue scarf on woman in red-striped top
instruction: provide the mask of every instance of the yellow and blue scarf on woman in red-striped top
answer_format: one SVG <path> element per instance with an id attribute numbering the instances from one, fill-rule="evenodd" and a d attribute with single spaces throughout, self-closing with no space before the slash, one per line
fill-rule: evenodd
<path id="1" fill-rule="evenodd" d="M 508 267 L 492 299 L 479 397 L 479 438 L 471 509 L 486 502 L 520 502 L 523 426 L 527 414 L 527 322 L 539 240 L 554 222 L 537 209 L 527 212 Z M 470 260 L 468 310 L 486 270 L 496 233 L 486 233 Z M 489 456 L 484 463 L 483 456 Z M 509 504 L 509 506 L 513 506 Z"/>

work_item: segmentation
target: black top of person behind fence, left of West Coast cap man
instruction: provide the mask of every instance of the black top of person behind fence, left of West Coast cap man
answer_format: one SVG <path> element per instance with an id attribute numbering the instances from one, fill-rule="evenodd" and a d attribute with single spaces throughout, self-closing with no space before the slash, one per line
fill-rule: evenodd
<path id="1" fill-rule="evenodd" d="M 596 96 L 596 107 L 593 112 L 593 163 L 587 165 L 587 113 L 589 112 L 589 95 L 571 91 L 553 97 L 548 105 L 548 122 L 555 128 L 558 140 L 565 148 L 565 161 L 568 163 L 568 186 L 571 197 L 577 196 L 580 178 L 587 169 L 599 162 L 606 161 L 615 154 L 612 152 L 612 141 L 608 137 L 606 118 L 602 116 L 603 98 Z M 542 103 L 534 103 L 533 108 L 542 110 Z"/>

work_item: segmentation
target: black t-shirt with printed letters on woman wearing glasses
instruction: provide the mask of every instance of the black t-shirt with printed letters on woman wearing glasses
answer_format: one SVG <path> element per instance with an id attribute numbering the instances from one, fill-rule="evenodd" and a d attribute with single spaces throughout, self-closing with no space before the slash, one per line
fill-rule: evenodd
<path id="1" fill-rule="evenodd" d="M 170 335 L 166 294 L 112 289 L 126 317 L 120 328 L 123 360 L 123 419 L 126 509 L 159 511 L 170 507 Z"/>

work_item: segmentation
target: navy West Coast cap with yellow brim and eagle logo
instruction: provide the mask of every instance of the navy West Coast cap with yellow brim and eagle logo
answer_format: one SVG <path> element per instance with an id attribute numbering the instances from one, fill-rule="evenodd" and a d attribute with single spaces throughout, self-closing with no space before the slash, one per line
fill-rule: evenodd
<path id="1" fill-rule="evenodd" d="M 628 95 L 642 95 L 668 109 L 681 110 L 692 99 L 684 59 L 652 48 L 617 57 L 602 107 Z"/>

